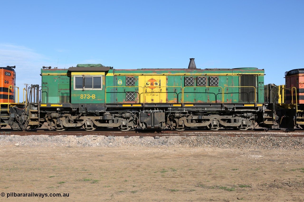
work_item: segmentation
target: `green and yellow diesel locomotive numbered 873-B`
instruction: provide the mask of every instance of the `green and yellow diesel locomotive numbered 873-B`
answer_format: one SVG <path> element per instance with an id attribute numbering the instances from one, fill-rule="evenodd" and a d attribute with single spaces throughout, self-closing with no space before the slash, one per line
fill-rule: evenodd
<path id="1" fill-rule="evenodd" d="M 32 86 L 30 92 L 36 93 L 29 103 L 30 128 L 47 122 L 57 131 L 247 130 L 274 123 L 274 111 L 264 102 L 264 69 L 197 69 L 190 59 L 187 69 L 79 64 L 41 69 L 41 76 L 41 86 Z"/>

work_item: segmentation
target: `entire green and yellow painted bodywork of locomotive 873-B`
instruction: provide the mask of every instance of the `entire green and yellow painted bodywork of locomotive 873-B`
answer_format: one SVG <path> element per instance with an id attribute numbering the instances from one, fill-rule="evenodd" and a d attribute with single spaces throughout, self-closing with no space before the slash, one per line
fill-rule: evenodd
<path id="1" fill-rule="evenodd" d="M 264 70 L 256 68 L 109 69 L 106 72 L 41 69 L 41 73 L 42 103 L 254 103 L 254 99 L 256 103 L 264 103 Z M 89 75 L 102 76 L 102 89 L 74 89 L 74 76 Z M 240 87 L 231 87 L 240 86 L 243 75 L 251 76 L 255 85 L 255 88 L 247 87 L 253 99 L 245 101 L 241 94 L 248 92 L 241 93 Z M 134 78 L 134 86 L 127 86 L 126 77 Z M 185 87 L 185 77 L 194 78 L 193 86 Z M 205 86 L 198 85 L 199 77 L 206 77 Z M 211 77 L 218 77 L 218 86 L 211 86 Z M 135 92 L 135 101 L 126 100 L 128 92 Z"/>

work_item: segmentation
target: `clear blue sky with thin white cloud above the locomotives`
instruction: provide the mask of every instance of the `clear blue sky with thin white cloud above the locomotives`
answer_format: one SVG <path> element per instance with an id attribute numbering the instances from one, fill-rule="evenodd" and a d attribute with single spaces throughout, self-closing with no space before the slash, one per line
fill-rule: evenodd
<path id="1" fill-rule="evenodd" d="M 2 1 L 0 66 L 17 85 L 42 66 L 257 67 L 265 83 L 304 68 L 304 1 Z"/>

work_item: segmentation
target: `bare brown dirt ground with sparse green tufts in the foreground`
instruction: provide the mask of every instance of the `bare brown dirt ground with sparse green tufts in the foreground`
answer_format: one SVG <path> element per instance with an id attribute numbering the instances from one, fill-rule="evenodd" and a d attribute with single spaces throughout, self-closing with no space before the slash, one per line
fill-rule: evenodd
<path id="1" fill-rule="evenodd" d="M 1 146 L 0 157 L 0 201 L 304 201 L 302 149 Z"/>

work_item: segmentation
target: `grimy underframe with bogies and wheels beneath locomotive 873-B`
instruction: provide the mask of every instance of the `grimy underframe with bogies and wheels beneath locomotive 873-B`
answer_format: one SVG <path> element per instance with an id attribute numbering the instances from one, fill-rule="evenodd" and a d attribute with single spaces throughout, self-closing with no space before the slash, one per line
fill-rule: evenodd
<path id="1" fill-rule="evenodd" d="M 162 104 L 163 105 L 163 104 Z M 157 106 L 157 107 L 156 107 Z M 30 115 L 29 123 L 39 126 L 47 122 L 50 130 L 83 128 L 93 131 L 97 128 L 119 128 L 120 130 L 164 129 L 184 130 L 189 127 L 207 127 L 218 130 L 220 127 L 236 127 L 247 130 L 263 119 L 263 107 L 244 107 L 242 104 L 204 107 L 164 107 L 152 106 L 122 108 L 104 104 L 47 104 L 41 106 L 38 115 Z M 36 109 L 34 107 L 34 109 Z M 35 121 L 31 119 L 35 117 Z M 39 123 L 37 119 L 39 118 Z M 32 127 L 34 128 L 34 127 Z"/>

